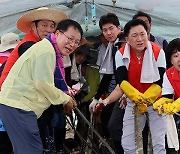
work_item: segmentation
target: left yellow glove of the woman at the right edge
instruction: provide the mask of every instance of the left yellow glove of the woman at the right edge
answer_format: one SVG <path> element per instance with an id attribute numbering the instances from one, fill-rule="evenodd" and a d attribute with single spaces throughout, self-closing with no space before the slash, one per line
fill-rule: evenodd
<path id="1" fill-rule="evenodd" d="M 153 104 L 153 109 L 158 110 L 159 114 L 164 112 L 164 104 L 172 103 L 173 99 L 162 97 Z"/>

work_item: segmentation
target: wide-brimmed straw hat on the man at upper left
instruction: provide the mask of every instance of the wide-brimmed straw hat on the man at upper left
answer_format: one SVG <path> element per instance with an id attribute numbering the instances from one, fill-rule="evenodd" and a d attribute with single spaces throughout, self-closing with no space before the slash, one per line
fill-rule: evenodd
<path id="1" fill-rule="evenodd" d="M 42 7 L 21 16 L 17 21 L 17 28 L 24 33 L 28 33 L 31 29 L 31 23 L 35 20 L 52 20 L 58 24 L 61 20 L 67 18 L 68 16 L 62 11 Z"/>

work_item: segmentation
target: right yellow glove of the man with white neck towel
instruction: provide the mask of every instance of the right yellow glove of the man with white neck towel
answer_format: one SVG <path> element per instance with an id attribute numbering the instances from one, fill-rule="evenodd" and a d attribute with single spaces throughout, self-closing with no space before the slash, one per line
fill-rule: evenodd
<path id="1" fill-rule="evenodd" d="M 152 84 L 145 92 L 144 95 L 147 98 L 147 105 L 152 105 L 156 99 L 161 95 L 161 87 L 158 84 Z"/>

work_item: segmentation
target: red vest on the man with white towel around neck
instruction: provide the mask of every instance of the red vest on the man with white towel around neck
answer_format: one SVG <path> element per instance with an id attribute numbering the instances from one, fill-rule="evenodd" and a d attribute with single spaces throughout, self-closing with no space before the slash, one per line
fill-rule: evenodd
<path id="1" fill-rule="evenodd" d="M 153 42 L 151 42 L 151 45 L 155 60 L 157 61 L 161 48 Z M 122 55 L 124 54 L 124 48 L 125 46 L 120 49 Z M 132 48 L 130 49 L 128 81 L 134 88 L 139 90 L 141 93 L 144 93 L 152 85 L 152 83 L 140 83 L 143 58 L 144 53 L 141 55 L 140 60 L 138 60 L 135 51 Z"/>

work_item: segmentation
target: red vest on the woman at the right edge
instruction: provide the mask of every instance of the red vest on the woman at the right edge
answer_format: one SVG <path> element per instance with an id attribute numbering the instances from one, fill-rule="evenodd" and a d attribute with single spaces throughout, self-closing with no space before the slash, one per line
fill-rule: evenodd
<path id="1" fill-rule="evenodd" d="M 179 98 L 180 97 L 180 75 L 179 75 L 178 70 L 175 69 L 174 66 L 172 66 L 166 71 L 166 74 L 167 74 L 169 82 L 171 83 L 174 89 L 175 96 Z"/>

